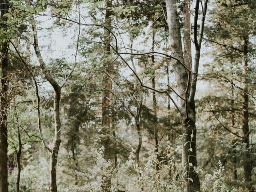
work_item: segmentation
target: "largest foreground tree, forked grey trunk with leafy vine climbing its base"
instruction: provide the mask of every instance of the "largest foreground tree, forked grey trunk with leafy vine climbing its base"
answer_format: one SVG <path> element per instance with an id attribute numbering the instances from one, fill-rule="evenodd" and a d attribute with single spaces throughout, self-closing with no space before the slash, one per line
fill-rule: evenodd
<path id="1" fill-rule="evenodd" d="M 200 59 L 200 50 L 202 43 L 202 36 L 204 31 L 204 20 L 206 16 L 208 0 L 204 1 L 204 7 L 202 8 L 202 19 L 199 29 L 199 37 L 197 36 L 198 31 L 198 15 L 199 15 L 199 4 L 200 0 L 196 0 L 195 12 L 194 12 L 194 46 L 195 46 L 195 61 L 194 69 L 190 69 L 188 64 L 189 62 L 184 63 L 184 52 L 182 50 L 182 40 L 181 40 L 181 27 L 177 11 L 177 1 L 176 0 L 166 0 L 166 10 L 167 10 L 167 21 L 169 26 L 170 33 L 170 50 L 172 56 L 176 59 L 172 59 L 171 64 L 174 70 L 177 87 L 179 89 L 180 97 L 180 113 L 182 116 L 182 166 L 186 172 L 187 180 L 185 186 L 188 192 L 194 190 L 200 190 L 200 182 L 198 175 L 194 172 L 193 167 L 197 167 L 196 159 L 196 106 L 195 106 L 195 93 L 196 93 L 196 82 L 198 76 L 198 67 Z M 190 4 L 188 2 L 187 4 Z M 185 4 L 185 9 L 187 8 Z M 189 6 L 188 6 L 189 7 Z M 187 12 L 186 12 L 187 14 Z M 184 15 L 184 24 L 188 26 L 190 17 Z M 187 29 L 186 29 L 187 30 Z M 186 35 L 186 33 L 185 33 Z M 184 37 L 185 42 L 187 41 L 187 36 Z M 190 54 L 190 43 L 186 42 L 185 44 L 187 58 L 189 59 Z"/>

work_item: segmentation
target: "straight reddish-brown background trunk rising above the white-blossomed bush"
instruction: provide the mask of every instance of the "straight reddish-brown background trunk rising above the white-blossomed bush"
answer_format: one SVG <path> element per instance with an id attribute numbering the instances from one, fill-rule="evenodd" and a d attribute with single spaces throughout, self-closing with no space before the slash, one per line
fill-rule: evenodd
<path id="1" fill-rule="evenodd" d="M 111 26 L 111 14 L 112 11 L 108 9 L 112 6 L 112 0 L 106 1 L 106 9 L 105 9 L 105 26 Z M 108 74 L 112 74 L 112 66 L 110 66 L 110 43 L 111 43 L 111 34 L 108 30 L 105 29 L 104 32 L 104 70 L 108 72 Z M 111 139 L 109 135 L 113 133 L 112 128 L 110 127 L 110 98 L 111 94 L 109 90 L 112 90 L 112 81 L 111 78 L 105 74 L 103 77 L 103 89 L 102 91 L 102 132 L 104 136 L 101 138 L 101 144 L 104 146 L 104 157 L 105 159 L 115 160 L 114 149 L 111 147 Z M 111 179 L 107 176 L 103 176 L 103 185 L 102 191 L 109 192 L 111 190 Z"/>

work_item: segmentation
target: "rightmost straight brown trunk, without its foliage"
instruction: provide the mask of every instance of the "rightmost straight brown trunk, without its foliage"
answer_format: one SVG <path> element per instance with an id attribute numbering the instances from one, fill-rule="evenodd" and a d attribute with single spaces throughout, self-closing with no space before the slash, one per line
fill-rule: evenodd
<path id="1" fill-rule="evenodd" d="M 246 188 L 251 192 L 252 186 L 250 182 L 252 181 L 252 159 L 250 156 L 250 140 L 249 140 L 249 97 L 247 83 L 247 66 L 248 66 L 248 38 L 243 39 L 243 50 L 242 50 L 242 72 L 243 72 L 243 103 L 242 103 L 242 129 L 243 129 L 243 142 L 246 144 L 246 151 L 244 152 L 244 180 L 246 182 Z"/>

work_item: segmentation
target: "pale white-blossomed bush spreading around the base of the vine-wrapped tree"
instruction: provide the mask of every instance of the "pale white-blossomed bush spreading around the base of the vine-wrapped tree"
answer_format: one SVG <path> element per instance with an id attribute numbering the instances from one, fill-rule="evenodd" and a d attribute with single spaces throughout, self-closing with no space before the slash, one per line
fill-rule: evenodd
<path id="1" fill-rule="evenodd" d="M 184 178 L 182 178 L 182 168 L 177 164 L 174 148 L 167 143 L 167 155 L 159 162 L 154 152 L 151 150 L 148 162 L 145 167 L 138 167 L 131 153 L 124 164 L 116 168 L 112 166 L 110 160 L 104 159 L 104 147 L 99 150 L 92 149 L 96 158 L 96 166 L 88 168 L 86 173 L 76 172 L 76 176 L 84 180 L 80 186 L 69 186 L 70 192 L 102 192 L 101 186 L 104 184 L 102 177 L 111 178 L 111 191 L 124 190 L 126 192 L 184 192 Z M 158 163 L 160 170 L 155 169 Z M 209 174 L 202 168 L 195 168 L 195 171 L 202 178 L 202 192 L 225 192 L 224 166 L 219 162 L 220 168 Z M 139 174 L 140 173 L 140 174 Z"/>

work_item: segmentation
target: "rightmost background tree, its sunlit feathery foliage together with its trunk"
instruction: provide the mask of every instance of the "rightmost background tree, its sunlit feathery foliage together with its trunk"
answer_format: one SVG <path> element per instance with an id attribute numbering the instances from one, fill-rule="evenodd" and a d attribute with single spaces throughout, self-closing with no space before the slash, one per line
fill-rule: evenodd
<path id="1" fill-rule="evenodd" d="M 232 120 L 232 126 L 225 126 L 222 121 L 222 127 L 235 133 L 236 137 L 244 143 L 244 180 L 245 187 L 252 191 L 252 154 L 249 122 L 252 117 L 249 115 L 254 96 L 252 93 L 252 80 L 254 72 L 252 71 L 252 60 L 254 59 L 254 44 L 252 38 L 255 36 L 254 25 L 251 24 L 251 18 L 254 18 L 255 6 L 252 1 L 224 1 L 216 12 L 214 18 L 211 18 L 213 26 L 207 30 L 208 42 L 216 48 L 214 55 L 216 59 L 216 68 L 223 72 L 217 76 L 217 79 L 224 84 L 225 89 L 230 94 L 230 100 L 233 104 L 239 101 L 236 106 L 238 110 L 232 110 L 234 106 L 223 106 L 221 110 L 229 110 L 232 116 L 239 116 Z M 232 18 L 230 20 L 230 18 Z M 248 18 L 248 19 L 245 19 Z M 249 64 L 248 64 L 249 63 Z M 222 67 L 220 66 L 223 65 Z M 229 70 L 229 71 L 227 71 Z M 230 72 L 231 71 L 231 72 Z M 206 74 L 208 76 L 208 73 Z M 205 77 L 206 77 L 205 76 Z M 215 79 L 216 77 L 210 76 Z M 224 98 L 222 98 L 224 99 Z M 214 113 L 215 110 L 212 109 Z M 215 112 L 216 113 L 216 112 Z M 215 114 L 214 114 L 215 115 Z M 217 118 L 217 115 L 216 115 Z M 225 117 L 226 118 L 226 117 Z M 220 120 L 219 120 L 220 121 Z M 242 132 L 236 132 L 235 127 L 240 127 Z"/>

